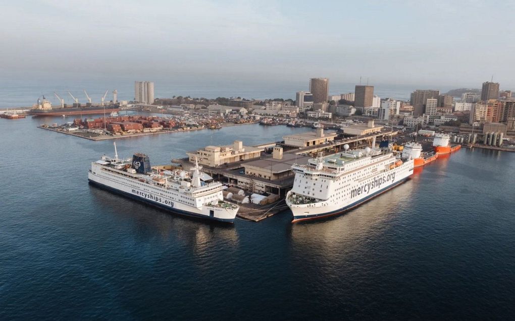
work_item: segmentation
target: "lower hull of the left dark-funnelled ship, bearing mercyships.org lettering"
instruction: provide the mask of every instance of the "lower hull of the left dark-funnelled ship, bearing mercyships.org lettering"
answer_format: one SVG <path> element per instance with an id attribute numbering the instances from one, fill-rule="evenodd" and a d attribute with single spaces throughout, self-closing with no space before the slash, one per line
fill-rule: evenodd
<path id="1" fill-rule="evenodd" d="M 114 194 L 138 200 L 181 216 L 224 223 L 233 223 L 236 217 L 236 210 L 222 209 L 210 206 L 202 206 L 203 208 L 198 209 L 197 207 L 182 204 L 177 200 L 164 199 L 163 196 L 150 194 L 148 191 L 141 190 L 141 188 L 127 186 L 125 184 L 114 182 L 104 177 L 99 177 L 91 172 L 88 173 L 88 181 L 91 185 L 100 187 Z M 143 197 L 143 195 L 146 197 Z"/>

